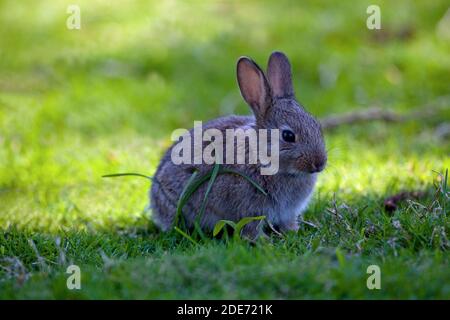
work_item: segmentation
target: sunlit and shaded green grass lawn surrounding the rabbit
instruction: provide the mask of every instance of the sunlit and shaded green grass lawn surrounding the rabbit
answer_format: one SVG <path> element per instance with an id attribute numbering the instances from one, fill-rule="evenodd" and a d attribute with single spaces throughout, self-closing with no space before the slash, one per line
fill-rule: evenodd
<path id="1" fill-rule="evenodd" d="M 69 31 L 71 3 L 0 2 L 0 298 L 450 298 L 446 1 L 378 1 L 382 31 L 365 27 L 372 1 L 86 0 Z M 327 131 L 297 234 L 158 232 L 148 180 L 101 176 L 151 176 L 172 130 L 248 114 L 236 60 L 265 66 L 273 50 L 318 117 L 441 109 Z M 401 190 L 426 196 L 385 212 Z M 81 290 L 66 287 L 70 264 Z M 381 290 L 366 287 L 371 264 Z"/>

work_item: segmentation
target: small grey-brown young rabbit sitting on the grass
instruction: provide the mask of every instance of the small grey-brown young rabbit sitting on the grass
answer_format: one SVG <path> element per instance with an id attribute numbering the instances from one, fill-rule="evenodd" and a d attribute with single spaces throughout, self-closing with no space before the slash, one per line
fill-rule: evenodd
<path id="1" fill-rule="evenodd" d="M 259 162 L 223 164 L 225 168 L 251 177 L 266 190 L 267 195 L 242 176 L 219 174 L 200 221 L 203 230 L 212 230 L 222 219 L 237 222 L 244 217 L 261 215 L 277 231 L 298 230 L 299 216 L 308 205 L 318 173 L 326 166 L 327 153 L 320 123 L 296 100 L 291 79 L 291 65 L 282 52 L 271 54 L 267 77 L 253 60 L 245 56 L 239 58 L 237 82 L 253 116 L 220 117 L 204 124 L 203 130 L 279 129 L 279 169 L 276 174 L 262 175 Z M 192 132 L 193 129 L 189 134 Z M 212 164 L 205 163 L 175 165 L 171 161 L 171 150 L 175 145 L 163 156 L 150 190 L 152 219 L 163 231 L 173 227 L 177 201 L 194 170 L 200 176 L 212 169 Z M 203 183 L 183 208 L 183 217 L 190 227 L 202 205 L 207 184 Z M 260 222 L 247 224 L 242 235 L 256 239 L 263 233 Z"/>

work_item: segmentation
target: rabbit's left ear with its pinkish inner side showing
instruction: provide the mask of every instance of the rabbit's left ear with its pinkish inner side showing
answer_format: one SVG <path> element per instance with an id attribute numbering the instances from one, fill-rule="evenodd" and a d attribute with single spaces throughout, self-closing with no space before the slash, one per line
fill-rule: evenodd
<path id="1" fill-rule="evenodd" d="M 263 119 L 270 106 L 270 87 L 261 68 L 247 57 L 237 63 L 237 80 L 242 97 L 253 109 L 257 119 Z"/>

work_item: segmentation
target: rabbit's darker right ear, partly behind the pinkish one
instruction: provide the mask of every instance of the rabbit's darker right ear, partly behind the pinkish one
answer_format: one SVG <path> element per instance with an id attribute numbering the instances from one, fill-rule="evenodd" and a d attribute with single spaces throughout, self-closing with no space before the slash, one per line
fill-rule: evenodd
<path id="1" fill-rule="evenodd" d="M 275 51 L 270 55 L 267 77 L 274 97 L 294 97 L 291 64 L 284 53 Z"/>

